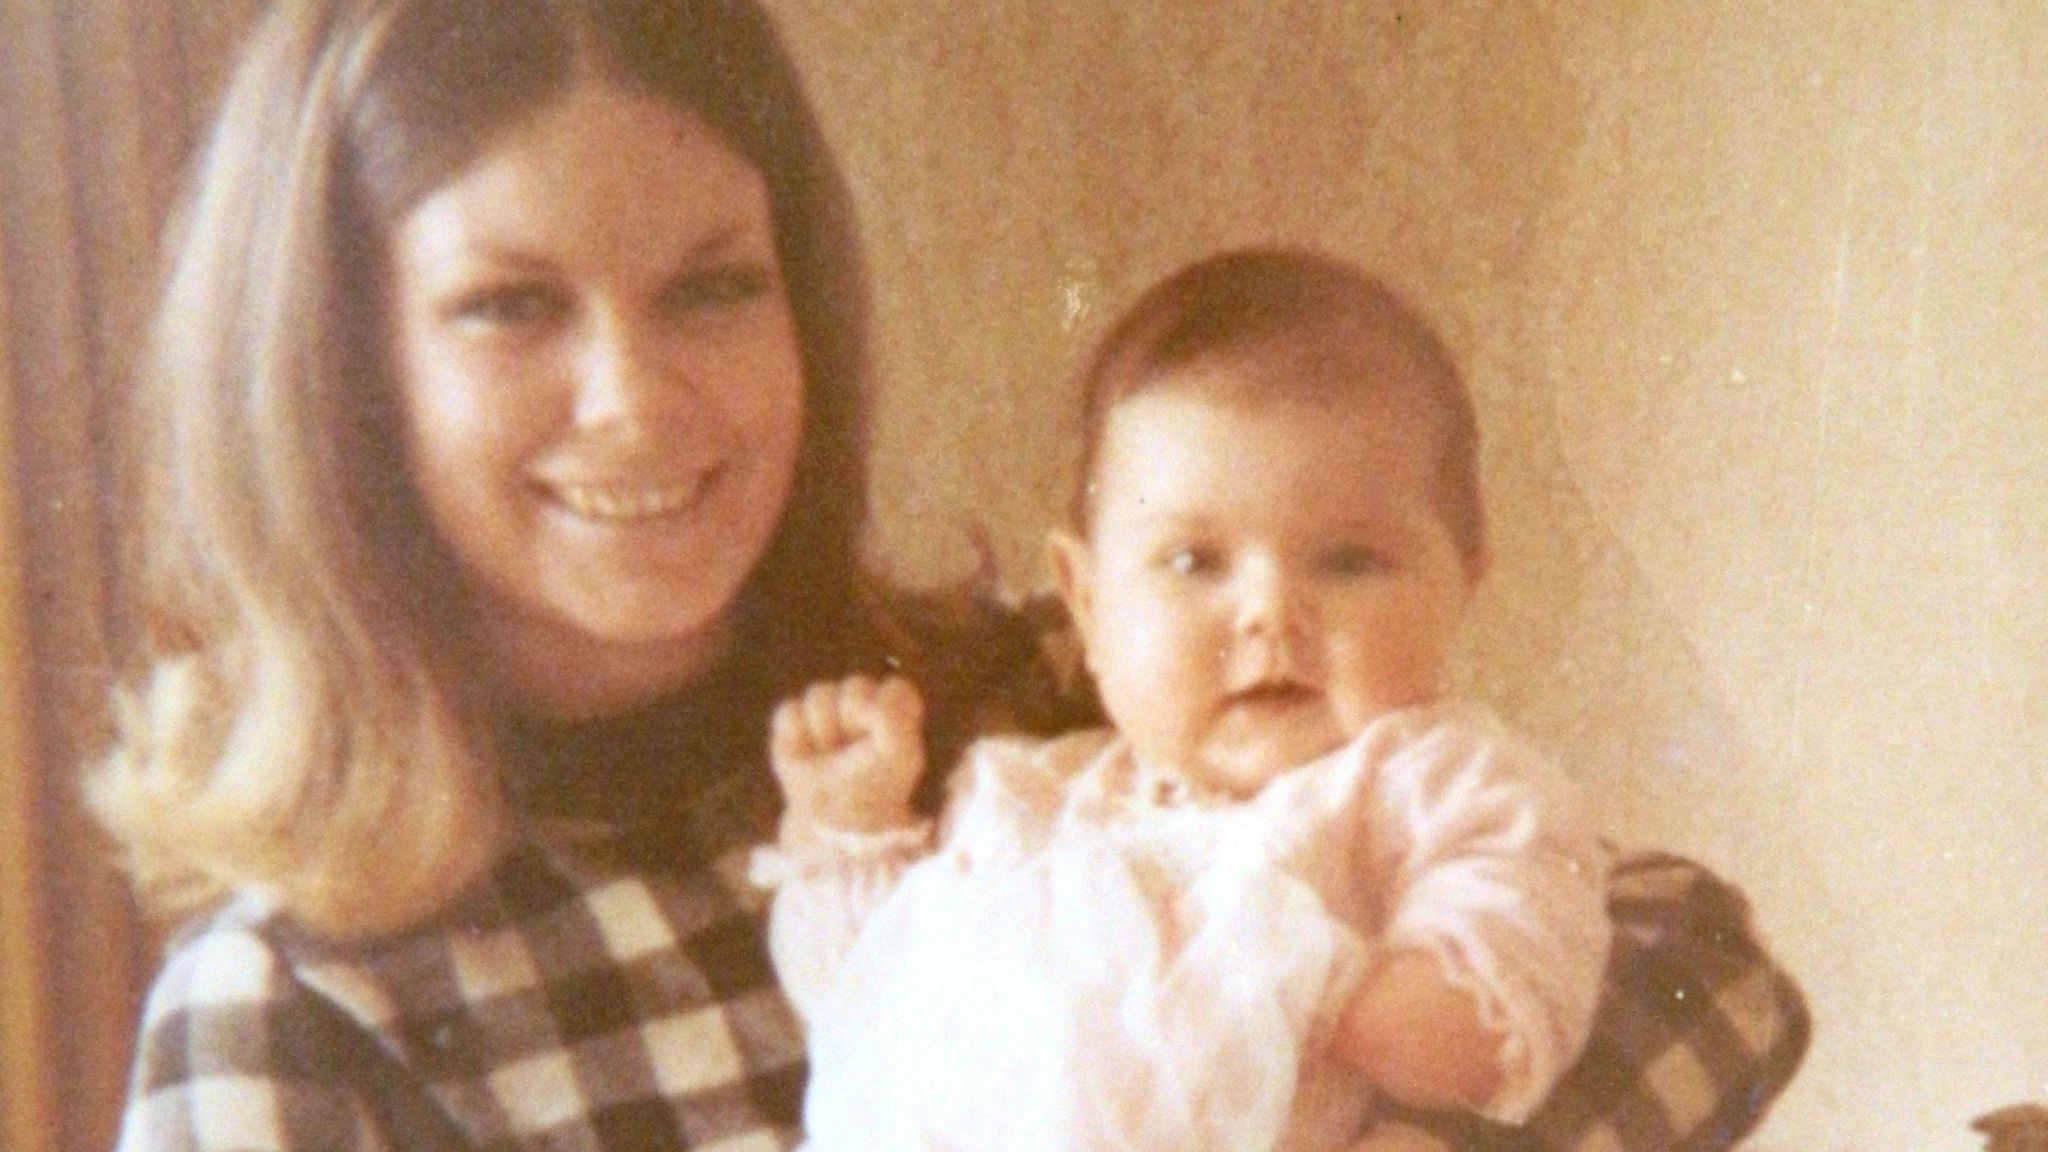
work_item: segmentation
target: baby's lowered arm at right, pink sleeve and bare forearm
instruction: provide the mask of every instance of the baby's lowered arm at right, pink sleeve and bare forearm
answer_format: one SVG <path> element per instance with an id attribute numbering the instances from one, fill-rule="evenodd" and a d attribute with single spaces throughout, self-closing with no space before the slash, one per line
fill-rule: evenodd
<path id="1" fill-rule="evenodd" d="M 1479 709 L 1368 754 L 1384 951 L 1333 1047 L 1401 1103 L 1520 1121 L 1591 1025 L 1606 849 L 1563 773 Z"/>

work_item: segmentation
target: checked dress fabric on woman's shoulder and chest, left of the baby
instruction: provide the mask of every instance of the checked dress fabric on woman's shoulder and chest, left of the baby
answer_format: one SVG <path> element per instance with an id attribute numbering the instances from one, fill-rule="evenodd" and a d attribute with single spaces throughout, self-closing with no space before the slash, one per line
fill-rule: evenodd
<path id="1" fill-rule="evenodd" d="M 238 904 L 152 992 L 121 1152 L 399 1152 L 309 1029 L 342 1006 L 479 1152 L 797 1144 L 803 1041 L 731 865 L 649 881 L 522 851 L 442 922 L 334 949 Z"/>

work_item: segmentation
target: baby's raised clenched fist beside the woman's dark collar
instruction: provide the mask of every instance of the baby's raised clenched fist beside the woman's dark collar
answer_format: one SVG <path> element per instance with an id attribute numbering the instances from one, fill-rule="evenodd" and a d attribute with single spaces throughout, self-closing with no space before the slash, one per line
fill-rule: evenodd
<path id="1" fill-rule="evenodd" d="M 811 685 L 774 709 L 768 756 L 797 820 L 848 832 L 909 824 L 924 775 L 924 699 L 901 676 Z"/>

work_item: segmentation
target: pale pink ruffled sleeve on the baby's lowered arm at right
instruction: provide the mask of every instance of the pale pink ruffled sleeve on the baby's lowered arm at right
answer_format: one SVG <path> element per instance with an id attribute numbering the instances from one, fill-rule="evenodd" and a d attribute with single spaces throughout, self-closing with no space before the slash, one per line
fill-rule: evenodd
<path id="1" fill-rule="evenodd" d="M 1366 738 L 1384 943 L 1436 955 L 1505 1041 L 1479 1109 L 1518 1123 L 1585 1045 L 1612 927 L 1608 849 L 1577 789 L 1485 709 L 1401 713 Z"/>

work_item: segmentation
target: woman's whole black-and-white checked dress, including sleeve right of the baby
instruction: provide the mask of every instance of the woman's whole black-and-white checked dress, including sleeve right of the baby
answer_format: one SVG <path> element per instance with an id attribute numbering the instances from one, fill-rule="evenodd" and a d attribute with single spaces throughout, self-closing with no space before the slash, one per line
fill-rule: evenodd
<path id="1" fill-rule="evenodd" d="M 1032 640 L 1036 670 L 1071 662 L 1069 642 Z M 119 1152 L 422 1152 L 422 1115 L 479 1152 L 793 1148 L 803 1037 L 741 869 L 772 804 L 760 744 L 735 734 L 752 758 L 678 816 L 719 834 L 702 853 L 635 847 L 618 814 L 657 791 L 621 785 L 616 818 L 537 820 L 549 847 L 395 939 L 324 943 L 258 900 L 188 927 L 145 1006 Z M 1622 859 L 1610 906 L 1593 1039 L 1530 1125 L 1405 1119 L 1466 1152 L 1710 1152 L 1757 1123 L 1808 1019 L 1741 896 L 1647 855 Z"/>

